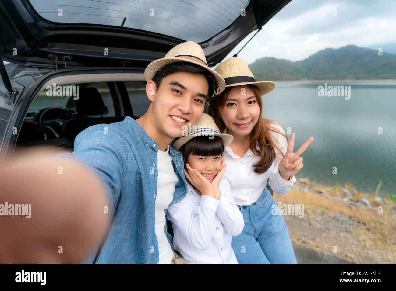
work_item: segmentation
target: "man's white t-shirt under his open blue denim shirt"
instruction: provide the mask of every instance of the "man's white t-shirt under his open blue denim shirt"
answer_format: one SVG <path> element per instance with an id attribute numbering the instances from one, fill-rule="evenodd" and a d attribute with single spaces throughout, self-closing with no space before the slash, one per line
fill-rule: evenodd
<path id="1" fill-rule="evenodd" d="M 160 253 L 159 263 L 171 263 L 173 250 L 165 234 L 165 209 L 173 200 L 173 192 L 179 181 L 172 165 L 169 146 L 166 151 L 157 152 L 158 183 L 155 198 L 155 234 L 158 240 Z"/>

